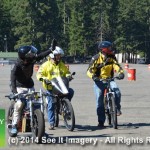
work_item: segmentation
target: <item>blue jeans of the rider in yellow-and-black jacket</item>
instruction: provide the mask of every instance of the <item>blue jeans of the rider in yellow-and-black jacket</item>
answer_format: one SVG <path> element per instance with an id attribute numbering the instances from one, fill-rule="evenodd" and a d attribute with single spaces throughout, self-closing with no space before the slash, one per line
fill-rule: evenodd
<path id="1" fill-rule="evenodd" d="M 121 109 L 121 93 L 115 81 L 110 83 L 111 89 L 115 92 L 117 109 Z M 102 81 L 94 82 L 94 93 L 96 96 L 96 111 L 98 116 L 98 122 L 105 122 L 105 109 L 104 109 L 104 89 L 106 83 Z"/>

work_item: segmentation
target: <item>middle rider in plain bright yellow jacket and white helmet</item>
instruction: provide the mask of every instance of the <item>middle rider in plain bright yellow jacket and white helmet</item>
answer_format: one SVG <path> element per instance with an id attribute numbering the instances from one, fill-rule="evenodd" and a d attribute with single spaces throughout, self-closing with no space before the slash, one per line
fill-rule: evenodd
<path id="1" fill-rule="evenodd" d="M 51 80 L 55 77 L 67 77 L 71 79 L 71 74 L 69 69 L 65 66 L 61 57 L 64 55 L 64 51 L 56 46 L 53 53 L 50 54 L 50 59 L 48 59 L 45 63 L 43 63 L 38 72 L 37 79 L 39 81 L 43 81 L 43 87 L 46 89 L 47 93 L 51 94 L 52 86 L 46 85 L 47 80 Z M 69 88 L 68 99 L 71 100 L 74 95 L 73 89 Z M 49 122 L 49 130 L 54 129 L 55 123 L 55 115 L 54 115 L 54 103 L 53 97 L 47 96 L 48 100 L 48 122 Z"/>

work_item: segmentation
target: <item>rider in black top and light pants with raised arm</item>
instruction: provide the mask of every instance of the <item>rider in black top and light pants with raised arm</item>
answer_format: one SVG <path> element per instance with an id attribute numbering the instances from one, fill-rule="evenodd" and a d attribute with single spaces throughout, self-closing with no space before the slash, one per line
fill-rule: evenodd
<path id="1" fill-rule="evenodd" d="M 56 44 L 56 41 L 53 41 L 53 43 Z M 21 46 L 18 48 L 18 59 L 11 70 L 11 90 L 13 93 L 26 93 L 29 90 L 34 90 L 32 80 L 34 64 L 36 61 L 48 56 L 52 52 L 52 48 L 40 54 L 37 54 L 37 52 L 38 50 L 34 46 Z M 12 134 L 17 134 L 17 124 L 23 104 L 23 100 L 18 99 L 14 105 Z"/>

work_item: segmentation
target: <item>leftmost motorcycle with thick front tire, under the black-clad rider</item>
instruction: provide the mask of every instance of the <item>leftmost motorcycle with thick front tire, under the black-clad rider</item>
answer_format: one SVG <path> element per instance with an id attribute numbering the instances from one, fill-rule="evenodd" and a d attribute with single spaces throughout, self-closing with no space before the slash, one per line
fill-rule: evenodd
<path id="1" fill-rule="evenodd" d="M 12 120 L 14 113 L 14 104 L 17 99 L 22 99 L 24 106 L 21 111 L 21 117 L 17 124 L 18 132 L 31 132 L 32 137 L 39 143 L 45 133 L 44 120 L 44 102 L 42 92 L 28 92 L 6 95 L 5 97 L 11 100 L 11 105 L 7 113 L 7 129 L 10 137 L 16 137 L 17 134 L 12 134 Z"/>

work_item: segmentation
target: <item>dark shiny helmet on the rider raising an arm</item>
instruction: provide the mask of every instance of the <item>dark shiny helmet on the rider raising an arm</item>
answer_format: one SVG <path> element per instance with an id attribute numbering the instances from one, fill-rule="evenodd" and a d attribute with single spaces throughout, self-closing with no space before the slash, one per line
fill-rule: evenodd
<path id="1" fill-rule="evenodd" d="M 33 60 L 38 50 L 34 46 L 21 46 L 18 49 L 18 56 L 22 60 Z"/>

